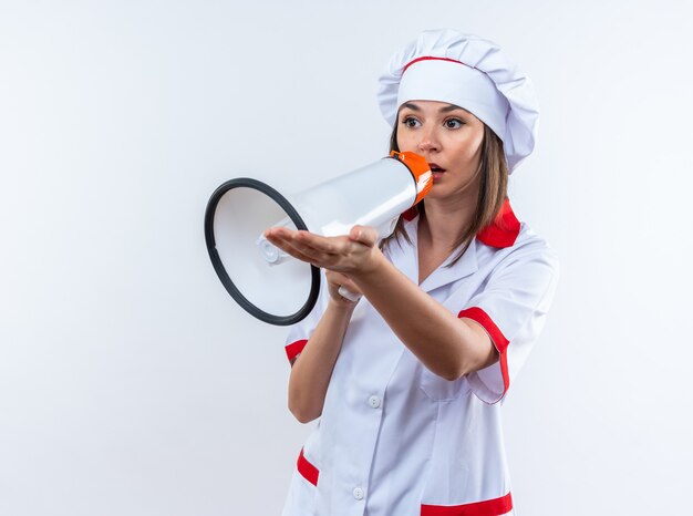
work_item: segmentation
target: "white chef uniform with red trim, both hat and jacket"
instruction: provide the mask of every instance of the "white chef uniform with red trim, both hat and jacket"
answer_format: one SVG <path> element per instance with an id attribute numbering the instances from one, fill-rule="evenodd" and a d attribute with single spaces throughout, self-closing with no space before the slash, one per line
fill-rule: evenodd
<path id="1" fill-rule="evenodd" d="M 455 87 L 455 85 L 463 87 Z M 531 85 L 492 42 L 427 31 L 393 56 L 379 93 L 385 118 L 410 100 L 459 105 L 504 141 L 511 172 L 534 148 Z M 418 282 L 415 210 L 385 257 Z M 453 251 L 420 288 L 488 332 L 499 360 L 458 380 L 423 365 L 362 298 L 349 323 L 322 415 L 299 454 L 283 516 L 514 515 L 500 402 L 536 343 L 558 260 L 506 199 L 464 255 Z M 324 279 L 324 278 L 323 278 Z M 323 283 L 324 285 L 324 283 Z M 329 301 L 291 327 L 287 355 L 307 345 Z"/>

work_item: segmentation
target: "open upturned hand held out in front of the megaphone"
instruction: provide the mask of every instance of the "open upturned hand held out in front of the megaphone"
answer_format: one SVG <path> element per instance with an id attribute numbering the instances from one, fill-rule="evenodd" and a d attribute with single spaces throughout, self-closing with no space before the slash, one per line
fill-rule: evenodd
<path id="1" fill-rule="evenodd" d="M 265 238 L 301 261 L 345 275 L 372 270 L 382 256 L 375 246 L 377 230 L 371 226 L 354 226 L 341 237 L 273 227 L 265 231 Z"/>

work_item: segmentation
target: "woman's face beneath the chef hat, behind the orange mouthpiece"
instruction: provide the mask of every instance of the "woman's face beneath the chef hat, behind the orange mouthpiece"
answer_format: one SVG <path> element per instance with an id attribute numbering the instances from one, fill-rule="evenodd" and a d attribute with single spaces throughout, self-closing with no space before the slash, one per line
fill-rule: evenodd
<path id="1" fill-rule="evenodd" d="M 428 199 L 476 195 L 483 142 L 484 123 L 453 104 L 410 101 L 397 114 L 400 151 L 421 154 L 431 165 Z"/>

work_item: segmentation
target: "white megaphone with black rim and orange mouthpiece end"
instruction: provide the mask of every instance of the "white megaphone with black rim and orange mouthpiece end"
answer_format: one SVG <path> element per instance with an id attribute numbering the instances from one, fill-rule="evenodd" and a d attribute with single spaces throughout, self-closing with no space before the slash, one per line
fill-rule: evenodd
<path id="1" fill-rule="evenodd" d="M 248 177 L 219 186 L 207 203 L 205 240 L 226 290 L 248 313 L 277 326 L 299 322 L 313 309 L 320 270 L 297 260 L 263 236 L 269 227 L 307 229 L 325 237 L 374 226 L 380 238 L 431 189 L 423 156 L 390 156 L 294 195 Z M 344 292 L 346 293 L 346 292 Z"/>

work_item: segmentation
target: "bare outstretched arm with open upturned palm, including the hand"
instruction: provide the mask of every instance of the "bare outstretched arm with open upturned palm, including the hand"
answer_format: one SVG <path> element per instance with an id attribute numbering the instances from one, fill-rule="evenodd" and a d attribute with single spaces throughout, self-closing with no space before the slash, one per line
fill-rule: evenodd
<path id="1" fill-rule="evenodd" d="M 457 319 L 385 259 L 373 228 L 354 227 L 349 237 L 331 238 L 272 228 L 266 236 L 296 258 L 348 275 L 433 373 L 455 380 L 497 360 L 480 324 Z"/>

